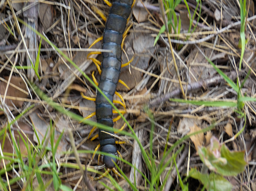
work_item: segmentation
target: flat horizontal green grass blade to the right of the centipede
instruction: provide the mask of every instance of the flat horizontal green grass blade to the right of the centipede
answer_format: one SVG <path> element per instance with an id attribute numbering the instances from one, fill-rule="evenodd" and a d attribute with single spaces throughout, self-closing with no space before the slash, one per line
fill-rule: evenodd
<path id="1" fill-rule="evenodd" d="M 170 98 L 169 100 L 173 102 L 190 103 L 194 105 L 205 105 L 205 106 L 215 106 L 215 107 L 223 107 L 223 106 L 235 107 L 237 105 L 236 102 L 227 102 L 227 101 L 226 102 L 225 101 L 209 102 L 209 101 L 185 100 L 185 99 L 174 99 L 174 98 Z"/>

